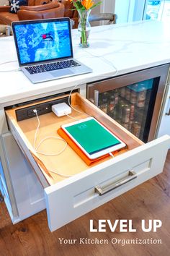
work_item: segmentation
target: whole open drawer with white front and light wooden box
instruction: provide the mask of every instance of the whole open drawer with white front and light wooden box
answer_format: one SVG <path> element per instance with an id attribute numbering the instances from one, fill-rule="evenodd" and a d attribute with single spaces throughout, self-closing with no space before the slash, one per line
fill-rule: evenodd
<path id="1" fill-rule="evenodd" d="M 170 137 L 164 136 L 144 144 L 79 93 L 71 95 L 71 105 L 101 121 L 125 141 L 128 148 L 94 166 L 86 166 L 69 146 L 61 155 L 41 155 L 33 147 L 37 118 L 17 121 L 16 108 L 6 110 L 9 129 L 44 187 L 51 231 L 161 173 L 170 143 Z M 86 114 L 73 110 L 71 116 L 82 119 Z M 57 136 L 56 131 L 61 124 L 73 121 L 69 116 L 58 117 L 53 112 L 39 118 L 36 143 L 47 136 Z M 39 150 L 55 153 L 63 148 L 62 143 L 45 140 Z M 70 177 L 64 178 L 57 173 Z"/>

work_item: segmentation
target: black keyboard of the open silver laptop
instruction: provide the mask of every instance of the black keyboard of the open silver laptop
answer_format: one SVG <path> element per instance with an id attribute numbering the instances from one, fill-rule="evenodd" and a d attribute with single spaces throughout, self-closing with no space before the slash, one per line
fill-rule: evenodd
<path id="1" fill-rule="evenodd" d="M 73 59 L 71 59 L 68 61 L 59 61 L 59 62 L 53 62 L 48 64 L 41 64 L 37 66 L 25 67 L 25 69 L 27 69 L 27 71 L 30 74 L 37 74 L 37 73 L 48 72 L 48 71 L 53 71 L 57 69 L 66 69 L 68 67 L 77 67 L 77 66 L 81 66 L 81 65 L 76 61 L 73 61 Z"/>

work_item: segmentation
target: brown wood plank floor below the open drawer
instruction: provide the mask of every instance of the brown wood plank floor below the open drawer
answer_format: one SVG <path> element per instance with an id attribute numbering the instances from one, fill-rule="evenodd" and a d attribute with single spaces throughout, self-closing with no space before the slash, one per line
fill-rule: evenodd
<path id="1" fill-rule="evenodd" d="M 91 233 L 89 220 L 132 219 L 137 233 Z M 144 233 L 142 219 L 160 219 L 163 223 L 156 233 Z M 78 239 L 161 239 L 162 244 L 60 244 L 58 238 Z M 93 210 L 63 228 L 50 233 L 45 210 L 21 223 L 12 225 L 4 202 L 0 203 L 0 255 L 87 255 L 87 256 L 168 256 L 170 255 L 170 150 L 164 173 L 141 184 L 102 207 Z"/>

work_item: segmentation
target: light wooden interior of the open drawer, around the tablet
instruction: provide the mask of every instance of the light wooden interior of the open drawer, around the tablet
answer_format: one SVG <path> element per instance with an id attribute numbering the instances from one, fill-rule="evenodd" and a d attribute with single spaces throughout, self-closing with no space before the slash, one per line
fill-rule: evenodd
<path id="1" fill-rule="evenodd" d="M 50 99 L 50 101 L 51 100 L 52 99 Z M 40 102 L 38 103 L 40 104 Z M 121 140 L 123 140 L 128 145 L 126 149 L 116 153 L 115 157 L 117 155 L 125 153 L 128 150 L 132 150 L 133 148 L 137 148 L 138 146 L 143 145 L 143 142 L 138 140 L 137 137 L 132 135 L 130 132 L 128 132 L 128 130 L 126 130 L 116 121 L 107 116 L 107 114 L 104 114 L 104 112 L 102 112 L 101 110 L 99 110 L 99 108 L 97 108 L 91 102 L 86 100 L 86 98 L 83 98 L 81 95 L 79 95 L 79 93 L 73 93 L 71 95 L 71 105 L 77 110 L 84 112 L 84 114 L 81 114 L 78 111 L 72 109 L 71 116 L 73 116 L 73 118 L 83 119 L 86 118 L 88 115 L 94 116 L 98 121 L 101 121 L 102 124 L 104 124 L 112 132 L 114 132 L 115 135 L 117 135 L 117 137 L 120 137 Z M 24 106 L 24 108 L 25 107 L 26 106 Z M 15 127 L 17 135 L 22 137 L 22 141 L 24 141 L 24 144 L 27 145 L 27 148 L 29 148 L 32 157 L 37 162 L 37 165 L 39 166 L 45 178 L 47 179 L 48 184 L 55 184 L 63 179 L 66 179 L 65 177 L 59 176 L 56 173 L 73 176 L 74 174 L 79 174 L 81 171 L 85 171 L 87 168 L 90 168 L 89 166 L 86 165 L 86 163 L 84 163 L 83 160 L 81 160 L 79 155 L 77 155 L 70 148 L 69 145 L 67 146 L 66 150 L 64 150 L 63 153 L 61 153 L 60 155 L 47 156 L 36 153 L 35 149 L 33 148 L 33 144 L 35 131 L 37 129 L 37 118 L 33 117 L 31 119 L 17 121 L 15 111 L 18 108 L 6 110 L 6 116 L 9 121 L 9 127 L 11 127 L 11 125 L 12 127 Z M 40 129 L 37 132 L 36 145 L 38 142 L 40 142 L 40 140 L 42 140 L 45 137 L 59 137 L 59 135 L 57 134 L 57 130 L 58 128 L 61 127 L 61 124 L 68 124 L 70 122 L 75 121 L 71 119 L 71 117 L 69 116 L 55 116 L 53 112 L 41 115 L 39 116 L 39 119 Z M 39 150 L 44 153 L 56 153 L 60 151 L 63 148 L 63 146 L 64 142 L 60 140 L 49 139 L 45 140 L 45 142 L 43 142 L 42 145 L 40 145 Z M 22 148 L 22 145 L 20 145 L 20 148 Z M 112 157 L 110 156 L 109 158 L 107 158 L 107 160 L 103 161 L 109 161 L 110 158 Z M 102 161 L 100 161 L 100 163 L 101 162 Z"/>

